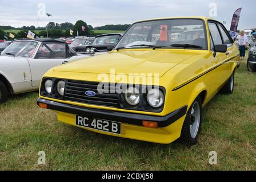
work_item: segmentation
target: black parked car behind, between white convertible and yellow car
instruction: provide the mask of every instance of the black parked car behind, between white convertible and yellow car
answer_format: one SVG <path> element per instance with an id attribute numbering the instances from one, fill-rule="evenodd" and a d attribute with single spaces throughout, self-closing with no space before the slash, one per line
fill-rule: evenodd
<path id="1" fill-rule="evenodd" d="M 74 49 L 78 53 L 95 53 L 111 51 L 123 34 L 103 34 L 95 37 L 93 44 L 77 46 Z"/>

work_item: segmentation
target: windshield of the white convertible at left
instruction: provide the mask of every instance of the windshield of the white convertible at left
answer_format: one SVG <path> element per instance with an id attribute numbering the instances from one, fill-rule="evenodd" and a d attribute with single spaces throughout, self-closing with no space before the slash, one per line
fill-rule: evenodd
<path id="1" fill-rule="evenodd" d="M 37 42 L 32 41 L 17 41 L 10 44 L 3 52 L 2 55 L 5 56 L 18 56 L 18 57 L 31 57 L 35 48 L 37 47 Z"/>

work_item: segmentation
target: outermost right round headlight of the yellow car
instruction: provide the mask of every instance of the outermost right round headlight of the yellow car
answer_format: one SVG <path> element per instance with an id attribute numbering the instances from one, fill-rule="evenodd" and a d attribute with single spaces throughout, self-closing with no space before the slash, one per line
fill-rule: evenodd
<path id="1" fill-rule="evenodd" d="M 160 107 L 163 105 L 163 92 L 159 89 L 151 89 L 149 93 L 147 93 L 147 102 L 152 107 Z"/>

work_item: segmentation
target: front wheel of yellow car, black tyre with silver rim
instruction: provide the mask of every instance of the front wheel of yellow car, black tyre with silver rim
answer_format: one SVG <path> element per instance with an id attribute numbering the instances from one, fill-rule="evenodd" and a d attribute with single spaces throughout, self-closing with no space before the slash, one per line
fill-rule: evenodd
<path id="1" fill-rule="evenodd" d="M 198 134 L 202 125 L 202 101 L 197 97 L 191 105 L 181 131 L 181 142 L 186 146 L 192 146 L 198 142 Z"/>

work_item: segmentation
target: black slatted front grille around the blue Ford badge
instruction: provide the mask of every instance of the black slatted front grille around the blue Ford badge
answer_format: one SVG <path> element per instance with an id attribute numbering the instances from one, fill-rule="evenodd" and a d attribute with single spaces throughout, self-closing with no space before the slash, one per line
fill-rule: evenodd
<path id="1" fill-rule="evenodd" d="M 111 93 L 110 86 L 108 88 L 109 90 L 105 90 L 108 92 L 99 93 L 98 84 L 98 82 L 67 80 L 65 89 L 65 100 L 82 102 L 85 104 L 118 107 L 118 93 Z M 94 97 L 86 96 L 86 91 L 93 91 L 96 93 L 96 95 Z"/>

